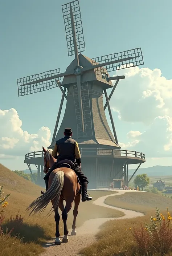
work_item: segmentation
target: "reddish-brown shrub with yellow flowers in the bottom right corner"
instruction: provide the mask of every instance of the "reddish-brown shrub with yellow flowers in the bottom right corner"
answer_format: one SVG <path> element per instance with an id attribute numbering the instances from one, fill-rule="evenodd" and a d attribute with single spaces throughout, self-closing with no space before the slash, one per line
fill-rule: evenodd
<path id="1" fill-rule="evenodd" d="M 140 226 L 139 229 L 130 228 L 137 245 L 138 253 L 141 255 L 152 255 L 152 253 L 160 253 L 166 255 L 172 249 L 172 217 L 167 208 L 167 220 L 160 214 L 156 208 L 156 218 L 151 216 L 150 224 Z"/>

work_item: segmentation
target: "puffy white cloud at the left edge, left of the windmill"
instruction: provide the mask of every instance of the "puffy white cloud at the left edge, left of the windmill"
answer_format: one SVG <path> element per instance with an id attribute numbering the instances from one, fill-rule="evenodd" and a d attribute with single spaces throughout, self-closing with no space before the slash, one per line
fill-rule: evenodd
<path id="1" fill-rule="evenodd" d="M 0 124 L 0 159 L 12 159 L 50 145 L 50 129 L 43 126 L 36 134 L 23 131 L 22 121 L 13 108 L 0 110 Z"/>

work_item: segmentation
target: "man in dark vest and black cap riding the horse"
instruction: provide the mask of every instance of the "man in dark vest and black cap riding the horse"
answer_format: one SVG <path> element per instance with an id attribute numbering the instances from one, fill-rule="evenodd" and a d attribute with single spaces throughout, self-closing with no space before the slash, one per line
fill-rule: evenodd
<path id="1" fill-rule="evenodd" d="M 74 172 L 78 175 L 78 178 L 81 182 L 82 202 L 90 201 L 92 197 L 89 197 L 87 194 L 87 184 L 89 181 L 81 171 L 81 154 L 79 151 L 78 142 L 71 138 L 73 135 L 71 128 L 65 128 L 64 135 L 64 138 L 56 141 L 52 152 L 52 156 L 56 158 L 57 161 L 55 164 L 53 164 L 52 168 L 50 168 L 49 172 L 44 176 L 46 191 L 48 190 L 48 179 L 50 173 L 57 168 L 56 166 L 59 161 L 67 159 L 74 163 Z M 44 192 L 41 191 L 41 194 L 44 194 Z"/>

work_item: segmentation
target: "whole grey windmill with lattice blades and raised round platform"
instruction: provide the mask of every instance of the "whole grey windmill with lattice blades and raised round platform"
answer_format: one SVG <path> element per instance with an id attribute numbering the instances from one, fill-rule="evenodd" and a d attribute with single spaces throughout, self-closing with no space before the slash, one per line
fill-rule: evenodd
<path id="1" fill-rule="evenodd" d="M 59 87 L 62 98 L 49 148 L 53 148 L 56 140 L 62 137 L 65 127 L 71 127 L 73 138 L 78 141 L 81 150 L 82 170 L 88 176 L 90 186 L 107 187 L 113 179 L 117 187 L 120 187 L 122 182 L 128 185 L 128 164 L 139 163 L 140 166 L 145 162 L 145 157 L 136 151 L 131 153 L 120 150 L 109 101 L 119 80 L 125 77 L 110 77 L 108 72 L 143 65 L 142 51 L 136 48 L 90 59 L 81 54 L 85 51 L 85 41 L 78 0 L 62 5 L 62 12 L 68 55 L 74 55 L 74 60 L 64 73 L 61 73 L 60 69 L 55 69 L 18 79 L 19 96 Z M 112 80 L 116 80 L 114 86 Z M 107 89 L 112 89 L 109 97 Z M 105 106 L 103 94 L 106 98 Z M 65 98 L 65 114 L 57 132 Z M 106 119 L 106 107 L 113 133 Z M 43 176 L 42 157 L 42 151 L 25 155 L 25 163 L 28 164 L 30 171 L 30 164 L 36 164 L 38 180 L 40 174 L 41 178 Z"/>

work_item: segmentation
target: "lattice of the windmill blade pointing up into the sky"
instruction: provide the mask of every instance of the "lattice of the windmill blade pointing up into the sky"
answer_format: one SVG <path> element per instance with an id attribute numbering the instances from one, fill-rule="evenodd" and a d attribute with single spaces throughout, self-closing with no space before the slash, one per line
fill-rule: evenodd
<path id="1" fill-rule="evenodd" d="M 68 56 L 72 56 L 75 54 L 73 34 L 72 34 L 72 28 L 71 28 L 70 5 L 72 8 L 73 17 L 74 17 L 75 34 L 76 34 L 78 53 L 85 51 L 85 41 L 84 41 L 84 37 L 83 37 L 81 12 L 80 12 L 80 8 L 79 8 L 79 1 L 77 0 L 77 1 L 73 1 L 68 4 L 62 5 L 62 11 L 63 11 L 63 17 L 64 17 L 64 23 L 65 23 L 65 31 L 66 31 Z"/>

